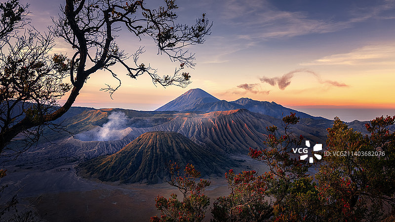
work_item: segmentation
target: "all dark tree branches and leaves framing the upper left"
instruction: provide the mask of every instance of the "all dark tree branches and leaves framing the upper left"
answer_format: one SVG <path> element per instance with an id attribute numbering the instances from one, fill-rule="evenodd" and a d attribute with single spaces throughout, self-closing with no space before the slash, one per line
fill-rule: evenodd
<path id="1" fill-rule="evenodd" d="M 70 109 L 91 74 L 108 74 L 101 90 L 110 96 L 121 85 L 116 65 L 134 79 L 146 74 L 155 85 L 187 86 L 191 75 L 183 71 L 195 66 L 195 55 L 185 48 L 204 43 L 212 26 L 204 13 L 195 24 L 177 23 L 174 0 L 150 5 L 144 0 L 65 0 L 59 19 L 53 19 L 48 33 L 40 33 L 27 25 L 27 7 L 18 0 L 0 3 L 2 155 L 19 155 L 35 145 L 43 126 L 59 130 L 60 126 L 51 122 Z M 179 65 L 174 73 L 161 76 L 149 61 L 139 61 L 144 46 L 135 45 L 135 53 L 128 54 L 117 43 L 121 36 L 148 37 L 158 47 L 158 54 Z M 49 55 L 54 37 L 65 40 L 71 58 Z M 111 78 L 118 82 L 116 86 L 108 84 Z M 66 102 L 59 106 L 58 100 L 64 96 Z"/>

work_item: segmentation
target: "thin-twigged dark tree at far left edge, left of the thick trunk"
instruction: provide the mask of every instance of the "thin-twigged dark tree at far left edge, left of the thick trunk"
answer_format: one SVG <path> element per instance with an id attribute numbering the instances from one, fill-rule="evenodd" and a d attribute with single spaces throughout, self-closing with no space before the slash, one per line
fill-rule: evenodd
<path id="1" fill-rule="evenodd" d="M 53 38 L 28 26 L 27 8 L 18 0 L 0 4 L 1 155 L 18 154 L 37 142 L 42 128 L 50 125 L 42 116 L 54 111 L 56 99 L 70 89 L 62 82 L 70 70 L 66 57 L 48 55 Z M 30 125 L 18 136 L 8 138 L 13 127 L 24 119 Z M 15 143 L 7 147 L 10 142 Z M 5 154 L 7 149 L 14 152 Z"/>

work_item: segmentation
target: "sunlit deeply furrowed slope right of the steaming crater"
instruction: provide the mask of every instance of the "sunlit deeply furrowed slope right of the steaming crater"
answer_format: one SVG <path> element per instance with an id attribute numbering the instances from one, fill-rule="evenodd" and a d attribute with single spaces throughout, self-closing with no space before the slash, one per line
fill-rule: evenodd
<path id="1" fill-rule="evenodd" d="M 319 122 L 323 122 L 325 126 L 332 123 L 331 120 L 319 120 Z M 266 139 L 266 126 L 273 124 L 281 129 L 280 119 L 240 109 L 204 114 L 180 113 L 169 122 L 154 127 L 139 128 L 139 130 L 177 132 L 197 144 L 213 148 L 216 152 L 246 154 L 248 148 L 263 148 L 265 146 L 263 141 Z M 296 124 L 293 131 L 295 135 L 303 135 L 315 143 L 325 143 L 326 140 L 326 128 L 316 127 L 312 124 Z M 136 133 L 139 131 L 133 130 L 128 134 L 128 137 L 138 136 Z M 279 133 L 282 131 L 280 130 Z"/>

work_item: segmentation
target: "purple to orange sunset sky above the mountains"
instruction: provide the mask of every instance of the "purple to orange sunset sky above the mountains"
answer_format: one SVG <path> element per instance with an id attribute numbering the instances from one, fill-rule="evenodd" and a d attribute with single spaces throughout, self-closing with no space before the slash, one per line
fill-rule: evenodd
<path id="1" fill-rule="evenodd" d="M 44 32 L 64 0 L 30 3 L 32 24 Z M 146 0 L 147 5 L 162 1 Z M 92 74 L 75 106 L 155 110 L 189 89 L 201 88 L 221 100 L 248 97 L 333 119 L 368 120 L 395 115 L 395 0 L 178 0 L 178 23 L 193 24 L 202 13 L 213 22 L 211 35 L 196 53 L 186 88 L 156 87 L 149 76 L 131 79 L 115 70 L 122 85 L 113 95 L 100 91 L 115 85 L 109 73 Z M 120 48 L 146 52 L 140 61 L 174 73 L 179 63 L 158 55 L 155 43 L 126 31 Z M 53 53 L 73 55 L 62 39 Z M 62 101 L 61 101 L 62 102 Z"/>

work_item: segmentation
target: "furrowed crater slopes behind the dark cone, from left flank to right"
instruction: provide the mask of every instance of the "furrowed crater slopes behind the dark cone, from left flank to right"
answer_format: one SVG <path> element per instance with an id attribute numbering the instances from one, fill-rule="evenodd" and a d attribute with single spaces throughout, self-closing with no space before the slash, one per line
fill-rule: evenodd
<path id="1" fill-rule="evenodd" d="M 93 113 L 92 113 L 93 114 Z M 140 116 L 139 114 L 138 116 Z M 26 154 L 29 159 L 45 158 L 93 158 L 99 155 L 112 154 L 126 146 L 140 135 L 151 131 L 177 132 L 193 142 L 217 153 L 248 153 L 248 148 L 262 148 L 267 134 L 266 126 L 273 124 L 281 126 L 281 120 L 274 117 L 250 112 L 245 109 L 233 111 L 213 111 L 197 114 L 176 113 L 165 114 L 169 121 L 152 127 L 137 128 L 126 127 L 117 130 L 119 140 L 94 141 L 100 126 L 79 133 L 75 138 L 69 137 L 53 143 L 42 144 L 30 149 Z M 158 115 L 161 118 L 161 115 Z M 296 135 L 303 135 L 314 143 L 325 144 L 326 128 L 331 127 L 333 121 L 305 118 L 293 127 Z M 281 129 L 281 127 L 279 127 Z M 125 135 L 125 133 L 128 134 Z M 281 131 L 279 132 L 281 133 Z M 89 140 L 89 138 L 92 138 Z"/>

